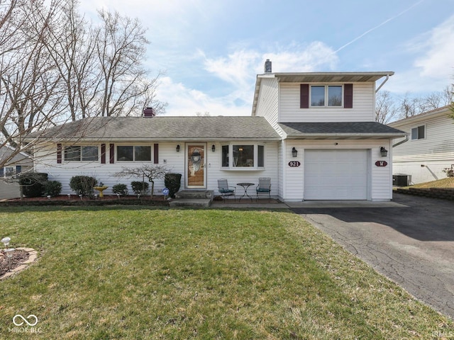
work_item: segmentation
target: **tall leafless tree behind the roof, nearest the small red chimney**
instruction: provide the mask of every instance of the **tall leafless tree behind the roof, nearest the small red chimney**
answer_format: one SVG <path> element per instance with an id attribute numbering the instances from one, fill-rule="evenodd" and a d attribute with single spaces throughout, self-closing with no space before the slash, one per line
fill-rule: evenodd
<path id="1" fill-rule="evenodd" d="M 118 12 L 98 11 L 101 25 L 94 29 L 102 91 L 99 115 L 140 114 L 149 105 L 156 81 L 143 67 L 146 30 L 138 19 Z"/>

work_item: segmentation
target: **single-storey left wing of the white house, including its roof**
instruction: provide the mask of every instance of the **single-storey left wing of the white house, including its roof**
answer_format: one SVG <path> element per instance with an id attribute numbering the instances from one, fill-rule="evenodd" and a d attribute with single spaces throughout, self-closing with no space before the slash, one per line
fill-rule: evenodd
<path id="1" fill-rule="evenodd" d="M 258 184 L 259 177 L 272 179 L 271 195 L 277 197 L 277 150 L 280 137 L 264 118 L 260 117 L 104 117 L 68 123 L 64 128 L 48 130 L 36 149 L 35 170 L 62 183 L 62 194 L 73 194 L 72 176 L 92 176 L 109 188 L 124 183 L 130 193 L 131 181 L 137 178 L 114 176 L 123 168 L 143 164 L 165 166 L 169 172 L 182 174 L 181 189 L 214 190 L 218 179 L 229 184 Z M 80 125 L 86 124 L 84 128 Z M 90 126 L 90 128 L 87 128 Z M 79 135 L 79 131 L 83 135 Z M 57 135 L 54 134 L 57 133 Z M 61 137 L 65 136 L 65 137 Z M 33 137 L 33 136 L 32 136 Z M 131 159 L 123 152 L 131 149 Z M 84 159 L 84 149 L 92 156 Z M 137 150 L 143 159 L 136 159 Z M 74 150 L 77 157 L 74 157 Z M 192 156 L 199 155 L 199 164 Z M 164 188 L 162 179 L 155 181 L 155 193 Z M 242 193 L 238 188 L 238 193 Z M 253 189 L 249 189 L 250 193 Z"/>

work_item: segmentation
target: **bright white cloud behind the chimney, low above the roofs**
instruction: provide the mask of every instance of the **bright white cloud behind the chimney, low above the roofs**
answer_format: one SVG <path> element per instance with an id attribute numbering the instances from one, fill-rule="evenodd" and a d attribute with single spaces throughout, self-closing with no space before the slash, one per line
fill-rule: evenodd
<path id="1" fill-rule="evenodd" d="M 167 101 L 166 115 L 250 115 L 255 78 L 263 73 L 266 59 L 272 60 L 273 72 L 310 72 L 319 68 L 333 69 L 338 57 L 322 42 L 307 47 L 291 45 L 279 51 L 267 53 L 256 50 L 236 50 L 226 57 L 209 58 L 199 50 L 204 69 L 219 79 L 219 86 L 226 82 L 229 91 L 224 96 L 211 97 L 204 91 L 190 89 L 175 83 L 171 77 L 163 77 L 157 89 L 157 97 Z"/>

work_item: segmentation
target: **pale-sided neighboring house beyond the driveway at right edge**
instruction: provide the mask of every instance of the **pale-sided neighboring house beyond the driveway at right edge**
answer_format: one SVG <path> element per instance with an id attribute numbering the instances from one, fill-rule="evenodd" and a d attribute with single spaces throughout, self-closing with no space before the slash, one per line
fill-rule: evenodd
<path id="1" fill-rule="evenodd" d="M 444 179 L 445 168 L 454 167 L 454 120 L 450 106 L 397 120 L 388 125 L 406 132 L 408 141 L 394 140 L 395 175 L 408 176 L 409 184 Z"/>

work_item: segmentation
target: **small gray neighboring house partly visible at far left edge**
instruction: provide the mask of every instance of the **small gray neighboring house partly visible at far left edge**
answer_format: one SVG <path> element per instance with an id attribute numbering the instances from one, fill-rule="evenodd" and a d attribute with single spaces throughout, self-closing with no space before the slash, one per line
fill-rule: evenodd
<path id="1" fill-rule="evenodd" d="M 18 198 L 21 188 L 15 176 L 33 169 L 33 160 L 24 152 L 15 152 L 13 147 L 4 145 L 0 147 L 0 160 L 9 159 L 0 167 L 0 200 Z"/>

